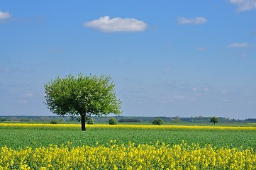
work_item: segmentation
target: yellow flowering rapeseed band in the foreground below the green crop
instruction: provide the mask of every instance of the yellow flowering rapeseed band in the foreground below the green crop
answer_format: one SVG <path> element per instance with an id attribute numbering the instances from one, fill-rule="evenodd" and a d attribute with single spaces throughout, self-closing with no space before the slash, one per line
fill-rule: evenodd
<path id="1" fill-rule="evenodd" d="M 134 143 L 0 149 L 0 169 L 256 169 L 253 149 Z"/>

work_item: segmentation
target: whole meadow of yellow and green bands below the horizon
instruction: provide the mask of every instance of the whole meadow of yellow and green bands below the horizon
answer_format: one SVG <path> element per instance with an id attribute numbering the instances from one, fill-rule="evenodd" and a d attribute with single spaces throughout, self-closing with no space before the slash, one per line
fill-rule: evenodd
<path id="1" fill-rule="evenodd" d="M 255 132 L 254 124 L 87 125 L 82 132 L 72 124 L 2 123 L 0 169 L 255 169 Z"/>

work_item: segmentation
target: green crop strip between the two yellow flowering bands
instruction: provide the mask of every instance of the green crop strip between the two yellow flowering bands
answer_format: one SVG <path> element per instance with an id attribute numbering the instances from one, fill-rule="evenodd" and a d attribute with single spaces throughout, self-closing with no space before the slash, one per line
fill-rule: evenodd
<path id="1" fill-rule="evenodd" d="M 190 124 L 191 125 L 191 124 Z M 250 124 L 243 125 L 250 126 Z M 252 125 L 254 126 L 254 124 Z M 29 147 L 48 147 L 49 145 L 74 146 L 106 145 L 110 140 L 117 144 L 135 145 L 155 143 L 157 140 L 169 145 L 199 143 L 200 146 L 211 144 L 213 147 L 241 147 L 256 149 L 256 130 L 208 130 L 193 129 L 129 129 L 129 128 L 88 128 L 82 132 L 77 128 L 2 128 L 0 125 L 0 147 L 13 149 Z"/>

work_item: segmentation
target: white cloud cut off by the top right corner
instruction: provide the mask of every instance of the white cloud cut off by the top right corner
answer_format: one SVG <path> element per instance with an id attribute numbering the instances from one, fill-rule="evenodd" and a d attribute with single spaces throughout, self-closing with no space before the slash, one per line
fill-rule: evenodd
<path id="1" fill-rule="evenodd" d="M 229 0 L 230 3 L 238 6 L 238 11 L 249 11 L 256 8 L 255 0 Z"/>

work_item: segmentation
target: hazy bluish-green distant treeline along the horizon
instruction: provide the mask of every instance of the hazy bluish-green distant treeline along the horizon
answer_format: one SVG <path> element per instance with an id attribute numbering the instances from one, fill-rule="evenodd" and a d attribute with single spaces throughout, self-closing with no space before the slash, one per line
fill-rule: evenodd
<path id="1" fill-rule="evenodd" d="M 110 117 L 92 117 L 94 122 L 108 122 Z M 165 122 L 171 123 L 209 123 L 211 117 L 196 116 L 189 118 L 181 118 L 179 116 L 174 117 L 142 117 L 142 116 L 113 116 L 118 122 L 152 122 L 156 118 L 161 118 Z M 0 122 L 13 121 L 13 122 L 50 122 L 51 120 L 59 120 L 60 122 L 77 122 L 79 117 L 74 116 L 28 116 L 28 115 L 17 115 L 17 116 L 0 116 Z M 248 118 L 245 120 L 240 119 L 229 119 L 218 117 L 219 123 L 256 123 L 256 118 Z"/>

